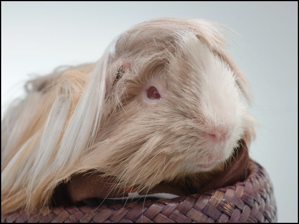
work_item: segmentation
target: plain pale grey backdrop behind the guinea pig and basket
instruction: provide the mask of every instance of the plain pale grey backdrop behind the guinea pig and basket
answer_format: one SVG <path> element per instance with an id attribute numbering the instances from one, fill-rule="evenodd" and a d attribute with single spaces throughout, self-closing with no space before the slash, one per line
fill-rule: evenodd
<path id="1" fill-rule="evenodd" d="M 1 116 L 28 74 L 94 62 L 120 32 L 164 16 L 236 30 L 229 50 L 248 76 L 260 124 L 250 156 L 274 184 L 279 222 L 298 222 L 298 2 L 1 2 Z"/>

